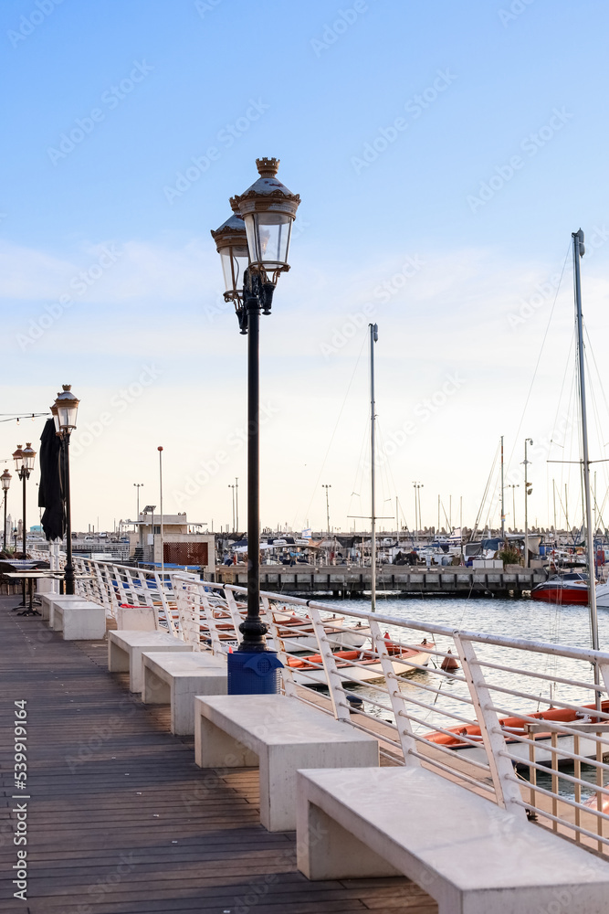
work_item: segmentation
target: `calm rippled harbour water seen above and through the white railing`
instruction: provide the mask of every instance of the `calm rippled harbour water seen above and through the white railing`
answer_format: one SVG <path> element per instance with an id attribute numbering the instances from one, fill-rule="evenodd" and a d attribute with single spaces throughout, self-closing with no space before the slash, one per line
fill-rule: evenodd
<path id="1" fill-rule="evenodd" d="M 348 611 L 350 608 L 367 611 L 370 608 L 368 600 L 325 600 L 331 602 L 332 609 Z M 443 598 L 399 598 L 394 596 L 381 597 L 377 600 L 377 612 L 397 617 L 399 619 L 431 624 L 444 625 L 451 629 L 462 629 L 469 632 L 485 632 L 493 635 L 507 635 L 509 637 L 526 638 L 530 641 L 545 643 L 558 643 L 570 647 L 589 647 L 590 624 L 588 608 L 585 606 L 557 606 L 554 604 L 538 603 L 531 600 L 455 600 Z M 403 629 L 382 624 L 383 631 L 387 629 L 393 637 L 401 641 L 417 644 L 420 643 L 425 632 Z M 398 634 L 399 632 L 399 634 Z M 609 650 L 609 610 L 599 610 L 599 637 L 601 650 Z M 436 645 L 440 650 L 453 648 L 449 638 L 436 635 Z M 578 679 L 585 683 L 592 682 L 592 673 L 589 664 L 567 660 L 561 657 L 550 657 L 545 654 L 506 650 L 494 645 L 476 645 L 480 659 L 485 659 L 506 666 L 519 666 L 524 670 L 542 673 L 549 677 L 548 680 L 536 680 L 513 672 L 485 671 L 488 680 L 495 685 L 518 689 L 520 692 L 529 693 L 531 698 L 524 699 L 516 696 L 500 696 L 493 694 L 496 704 L 502 703 L 502 713 L 509 711 L 542 710 L 546 703 L 539 703 L 539 697 L 551 697 L 571 700 L 576 703 L 589 704 L 593 702 L 593 693 L 577 686 L 562 685 L 552 682 L 553 676 Z M 404 696 L 415 701 L 434 701 L 422 685 L 437 687 L 440 683 L 438 676 L 433 673 L 434 666 L 430 664 L 429 672 L 415 672 L 401 679 L 400 689 Z M 458 672 L 458 671 L 457 671 Z M 382 719 L 391 719 L 391 712 L 374 707 L 366 698 L 384 700 L 379 698 L 372 686 L 352 685 L 350 689 L 354 694 L 362 697 L 364 708 L 369 713 Z M 432 709 L 417 709 L 415 702 L 410 705 L 412 713 L 419 717 L 415 729 L 425 732 L 436 726 L 452 727 L 457 721 L 448 719 L 442 713 L 444 709 L 456 712 L 463 717 L 473 717 L 473 709 L 459 701 L 459 697 L 468 697 L 467 686 L 458 682 L 444 680 L 440 695 Z M 388 699 L 386 699 L 388 704 Z M 565 769 L 569 771 L 569 769 Z M 593 770 L 588 772 L 591 779 Z M 586 774 L 583 772 L 584 779 Z M 541 783 L 541 781 L 540 781 Z M 544 785 L 545 786 L 545 785 Z M 561 792 L 572 794 L 572 789 L 566 781 L 561 781 Z M 585 795 L 585 794 L 584 794 Z"/>

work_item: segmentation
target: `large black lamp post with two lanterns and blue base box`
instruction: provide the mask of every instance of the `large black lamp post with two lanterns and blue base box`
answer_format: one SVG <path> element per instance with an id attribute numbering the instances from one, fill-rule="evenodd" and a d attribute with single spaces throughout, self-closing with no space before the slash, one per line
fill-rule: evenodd
<path id="1" fill-rule="evenodd" d="M 261 311 L 270 314 L 279 274 L 289 270 L 289 239 L 300 197 L 278 181 L 278 159 L 257 159 L 256 165 L 257 181 L 231 198 L 234 215 L 212 231 L 222 260 L 225 301 L 234 303 L 239 330 L 247 335 L 247 617 L 239 626 L 243 640 L 238 651 L 228 654 L 229 694 L 278 691 L 277 657 L 270 663 L 267 656 L 264 664 L 256 657 L 267 653 L 267 626 L 260 619 L 259 319 Z"/>

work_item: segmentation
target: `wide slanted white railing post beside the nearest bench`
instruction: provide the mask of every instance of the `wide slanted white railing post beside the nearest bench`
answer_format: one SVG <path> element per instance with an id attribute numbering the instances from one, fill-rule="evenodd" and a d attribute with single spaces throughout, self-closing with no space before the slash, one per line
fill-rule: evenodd
<path id="1" fill-rule="evenodd" d="M 512 763 L 506 759 L 505 755 L 500 754 L 507 751 L 506 741 L 501 731 L 499 717 L 492 709 L 490 692 L 478 664 L 474 645 L 463 638 L 460 632 L 453 632 L 453 639 L 466 677 L 469 695 L 476 710 L 484 748 L 487 750 L 488 766 L 498 805 L 505 807 L 515 816 L 525 819 L 526 812 L 524 807 L 520 806 L 520 802 L 522 802 L 520 788 L 512 780 L 514 777 Z"/>

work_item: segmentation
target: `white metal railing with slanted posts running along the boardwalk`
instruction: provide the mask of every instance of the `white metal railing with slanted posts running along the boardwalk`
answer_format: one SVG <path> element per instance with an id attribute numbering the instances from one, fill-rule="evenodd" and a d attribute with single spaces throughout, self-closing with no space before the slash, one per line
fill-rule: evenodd
<path id="1" fill-rule="evenodd" d="M 246 588 L 77 562 L 88 576 L 79 592 L 112 614 L 121 603 L 152 606 L 195 650 L 222 655 L 240 640 Z M 339 611 L 263 592 L 260 605 L 286 694 L 373 733 L 393 763 L 425 764 L 609 854 L 609 654 L 344 601 Z M 457 669 L 443 669 L 455 660 Z"/>

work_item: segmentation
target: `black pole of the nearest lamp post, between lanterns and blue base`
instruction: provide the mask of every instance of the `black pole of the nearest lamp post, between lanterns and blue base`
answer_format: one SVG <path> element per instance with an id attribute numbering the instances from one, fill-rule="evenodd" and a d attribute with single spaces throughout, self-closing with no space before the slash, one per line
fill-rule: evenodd
<path id="1" fill-rule="evenodd" d="M 267 626 L 260 619 L 260 304 L 247 294 L 247 617 L 239 625 L 239 651 L 266 651 Z"/>

